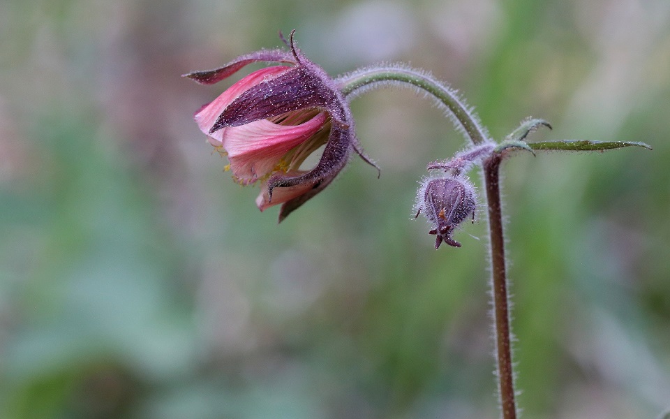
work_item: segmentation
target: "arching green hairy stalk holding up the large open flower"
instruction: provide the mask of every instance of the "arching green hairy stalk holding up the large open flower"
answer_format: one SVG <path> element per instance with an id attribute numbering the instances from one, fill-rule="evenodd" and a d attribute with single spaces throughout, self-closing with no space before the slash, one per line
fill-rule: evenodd
<path id="1" fill-rule="evenodd" d="M 407 84 L 422 89 L 435 98 L 451 112 L 456 122 L 463 128 L 472 144 L 479 145 L 487 141 L 488 135 L 484 127 L 471 110 L 456 94 L 445 84 L 435 80 L 426 73 L 412 68 L 399 66 L 380 66 L 364 68 L 362 70 L 344 75 L 336 80 L 341 86 L 344 96 L 356 96 L 366 89 L 381 87 L 384 85 Z"/>

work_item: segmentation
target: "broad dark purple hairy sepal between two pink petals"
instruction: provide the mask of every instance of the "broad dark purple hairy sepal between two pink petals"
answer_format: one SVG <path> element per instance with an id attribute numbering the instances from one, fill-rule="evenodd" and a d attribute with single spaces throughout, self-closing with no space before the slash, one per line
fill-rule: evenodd
<path id="1" fill-rule="evenodd" d="M 336 94 L 332 89 L 307 68 L 298 66 L 244 91 L 223 110 L 210 132 L 305 108 L 328 109 L 337 118 L 340 112 L 329 109 L 335 102 Z M 346 126 L 344 122 L 341 124 Z"/>

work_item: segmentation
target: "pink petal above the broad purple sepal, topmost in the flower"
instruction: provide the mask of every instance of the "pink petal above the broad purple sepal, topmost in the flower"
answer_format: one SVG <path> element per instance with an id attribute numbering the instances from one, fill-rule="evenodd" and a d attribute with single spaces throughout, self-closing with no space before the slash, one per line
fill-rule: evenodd
<path id="1" fill-rule="evenodd" d="M 276 75 L 280 75 L 286 71 L 290 71 L 290 67 L 274 66 L 261 68 L 260 70 L 254 71 L 238 82 L 232 84 L 232 86 L 226 89 L 221 95 L 218 96 L 218 98 L 214 99 L 214 101 L 211 101 L 211 103 L 204 105 L 202 108 L 200 108 L 200 110 L 198 110 L 198 112 L 195 112 L 195 122 L 198 123 L 198 128 L 200 128 L 200 131 L 210 135 L 212 138 L 214 138 L 214 140 L 221 142 L 221 136 L 223 135 L 221 131 L 217 131 L 216 133 L 211 134 L 209 133 L 209 130 L 214 125 L 214 122 L 216 122 L 216 119 L 218 119 L 219 115 L 221 115 L 221 112 L 223 112 L 223 110 L 228 105 L 230 105 L 230 103 L 232 103 L 235 98 L 243 94 L 244 91 L 257 85 L 263 80 L 267 80 L 267 78 L 275 77 Z"/>

